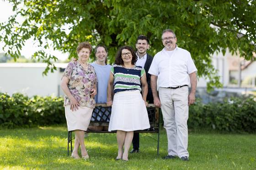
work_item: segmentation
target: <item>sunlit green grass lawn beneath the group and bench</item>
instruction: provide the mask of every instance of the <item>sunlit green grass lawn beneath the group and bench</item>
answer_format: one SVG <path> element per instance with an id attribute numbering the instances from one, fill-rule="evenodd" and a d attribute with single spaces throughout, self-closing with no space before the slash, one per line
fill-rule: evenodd
<path id="1" fill-rule="evenodd" d="M 157 134 L 149 134 L 157 139 Z M 256 169 L 256 134 L 189 133 L 190 161 L 163 160 L 167 154 L 165 130 L 160 133 L 160 156 L 157 142 L 140 135 L 140 153 L 129 161 L 116 161 L 116 134 L 94 134 L 85 138 L 89 160 L 67 156 L 65 125 L 31 129 L 0 130 L 0 169 Z"/>

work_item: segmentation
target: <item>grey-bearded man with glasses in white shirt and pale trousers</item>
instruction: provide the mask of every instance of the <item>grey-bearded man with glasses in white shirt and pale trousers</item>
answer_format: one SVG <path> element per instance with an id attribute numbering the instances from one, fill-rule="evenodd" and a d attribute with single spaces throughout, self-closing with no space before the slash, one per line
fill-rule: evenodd
<path id="1" fill-rule="evenodd" d="M 167 133 L 168 155 L 164 159 L 178 156 L 181 160 L 189 160 L 188 107 L 195 102 L 197 68 L 190 52 L 178 47 L 176 41 L 174 31 L 170 29 L 163 31 L 162 43 L 165 47 L 155 55 L 149 74 L 151 74 L 154 104 L 162 110 Z M 191 84 L 190 94 L 188 94 L 189 84 Z"/>

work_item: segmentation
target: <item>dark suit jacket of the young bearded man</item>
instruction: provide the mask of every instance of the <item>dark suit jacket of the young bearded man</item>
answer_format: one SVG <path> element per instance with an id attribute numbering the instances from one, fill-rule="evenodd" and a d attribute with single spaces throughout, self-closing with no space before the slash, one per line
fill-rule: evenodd
<path id="1" fill-rule="evenodd" d="M 151 66 L 151 63 L 153 61 L 153 57 L 150 56 L 148 53 L 147 53 L 147 60 L 145 62 L 145 66 L 144 66 L 144 69 L 145 69 L 145 72 L 146 72 L 146 77 L 147 77 L 147 82 L 148 82 L 148 88 L 149 88 L 149 91 L 148 91 L 148 95 L 147 95 L 147 100 L 149 100 L 149 103 L 154 103 L 154 98 L 153 98 L 153 94 L 152 94 L 152 90 L 151 90 L 151 86 L 150 86 L 150 77 L 151 77 L 151 74 L 149 74 L 149 67 Z"/>

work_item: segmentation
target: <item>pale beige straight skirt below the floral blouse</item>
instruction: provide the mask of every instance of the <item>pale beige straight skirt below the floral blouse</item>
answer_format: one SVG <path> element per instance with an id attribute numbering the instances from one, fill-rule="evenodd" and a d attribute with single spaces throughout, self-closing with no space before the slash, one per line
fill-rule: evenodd
<path id="1" fill-rule="evenodd" d="M 70 105 L 65 106 L 65 116 L 68 125 L 68 131 L 84 130 L 86 131 L 91 120 L 93 108 L 79 106 L 78 110 L 70 109 Z"/>

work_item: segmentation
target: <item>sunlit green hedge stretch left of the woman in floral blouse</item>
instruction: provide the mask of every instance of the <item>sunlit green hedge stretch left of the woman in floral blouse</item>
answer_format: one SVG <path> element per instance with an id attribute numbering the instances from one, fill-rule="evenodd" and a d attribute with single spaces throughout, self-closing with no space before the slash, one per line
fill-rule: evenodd
<path id="1" fill-rule="evenodd" d="M 0 93 L 0 125 L 7 128 L 65 122 L 64 99 Z"/>

